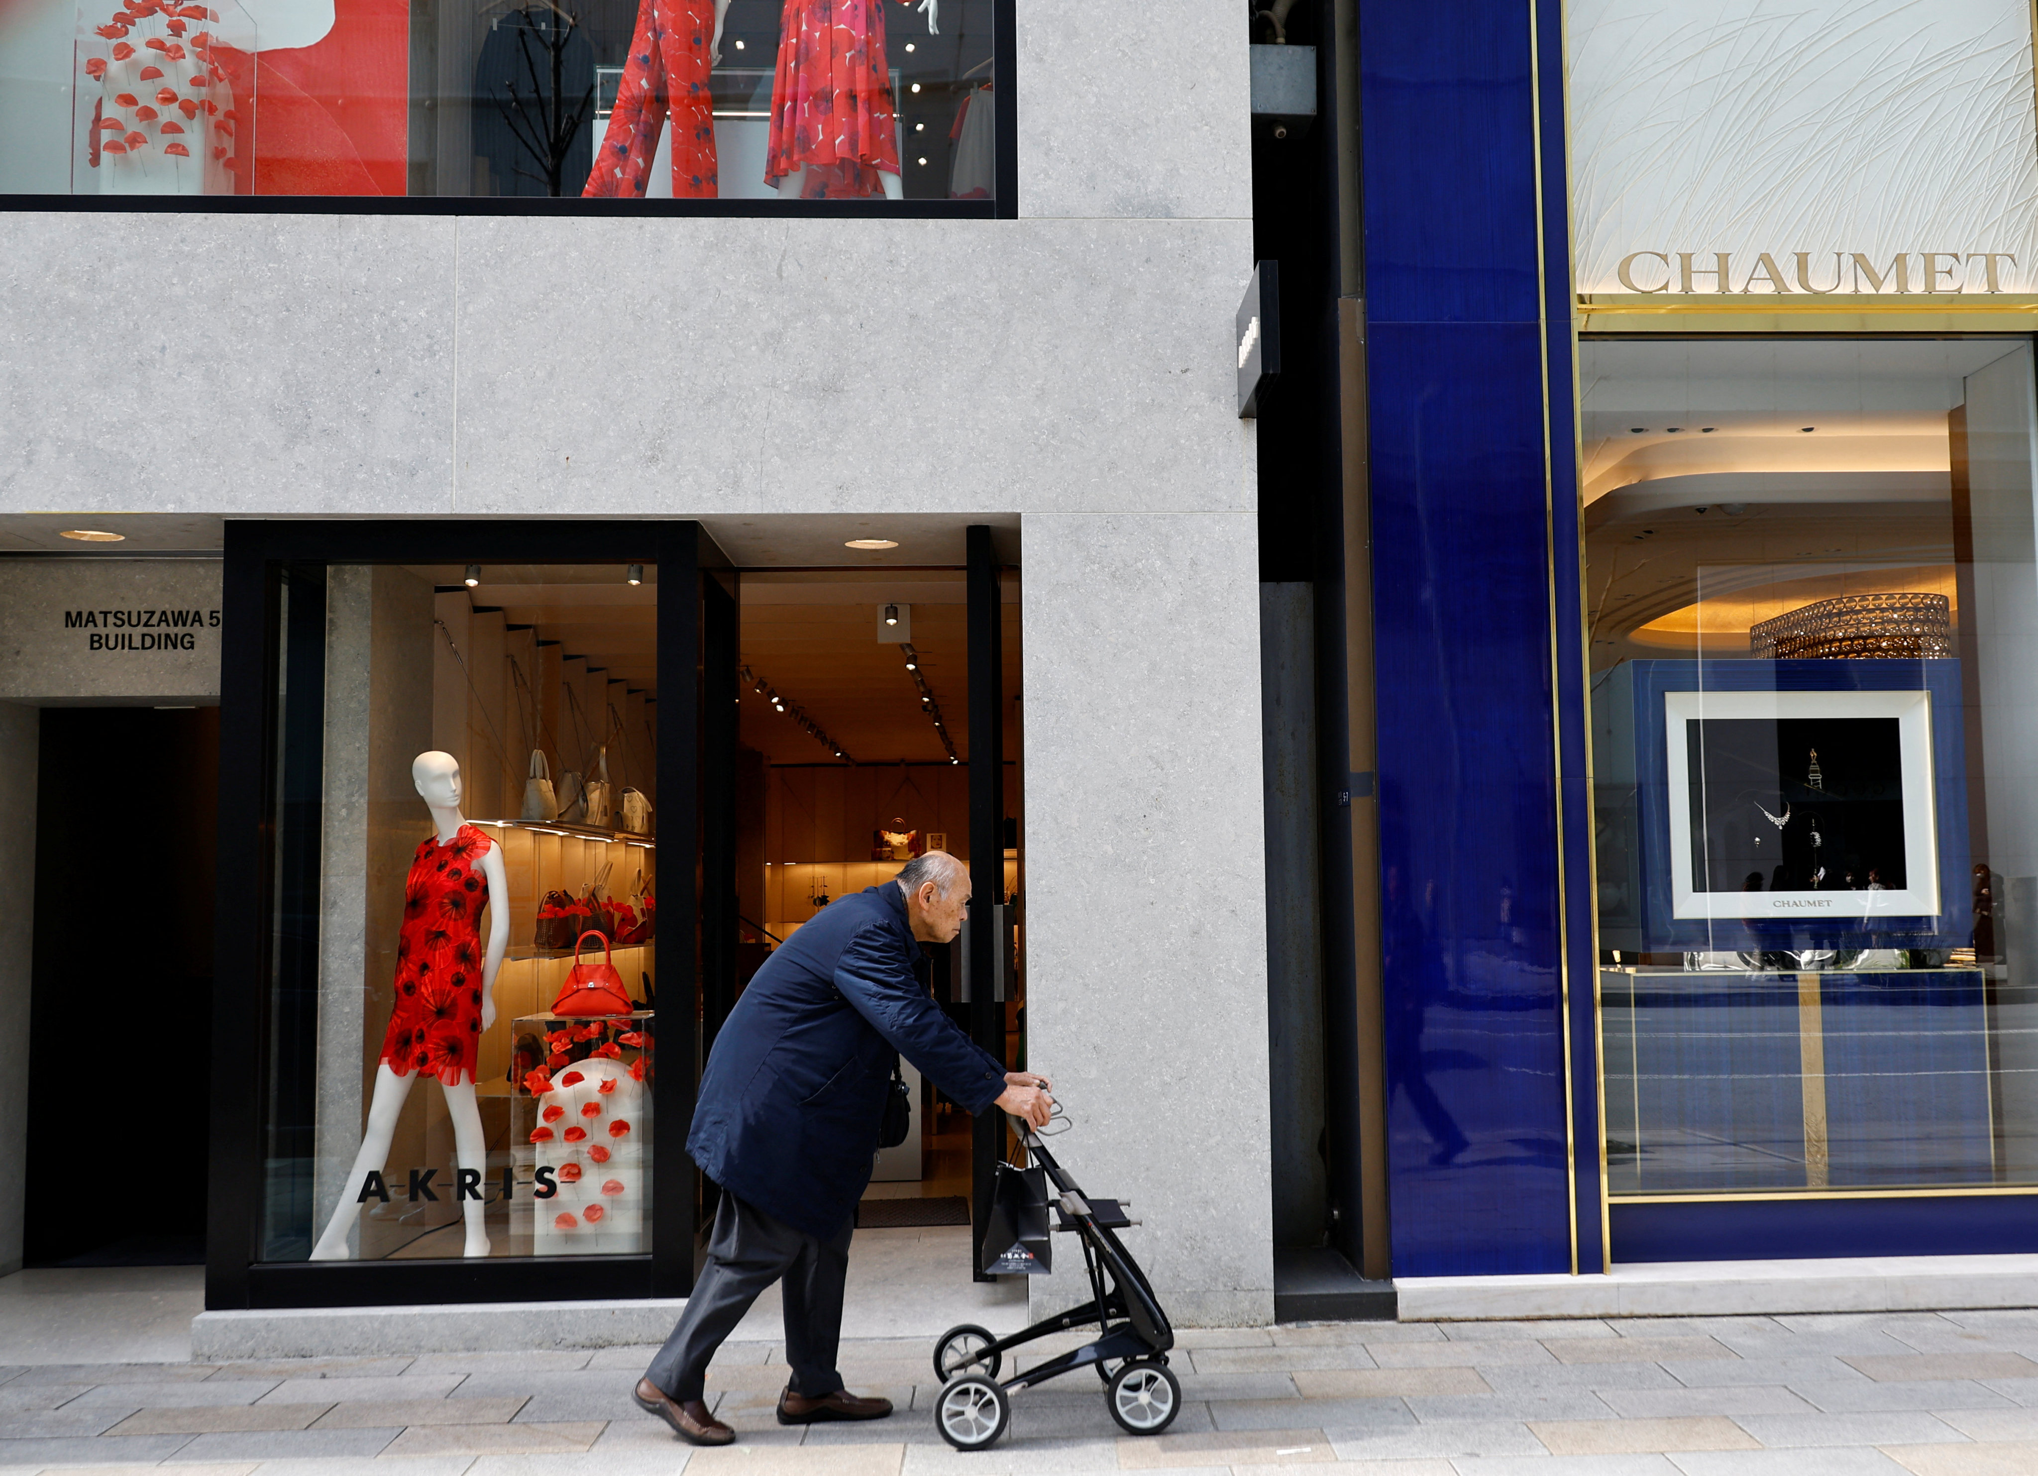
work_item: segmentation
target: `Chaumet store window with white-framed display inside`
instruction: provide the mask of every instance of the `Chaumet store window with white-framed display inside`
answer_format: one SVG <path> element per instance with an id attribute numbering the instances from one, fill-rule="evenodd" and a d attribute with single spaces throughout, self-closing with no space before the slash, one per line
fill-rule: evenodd
<path id="1" fill-rule="evenodd" d="M 2038 1182 L 2030 340 L 1579 385 L 1610 1197 Z"/>

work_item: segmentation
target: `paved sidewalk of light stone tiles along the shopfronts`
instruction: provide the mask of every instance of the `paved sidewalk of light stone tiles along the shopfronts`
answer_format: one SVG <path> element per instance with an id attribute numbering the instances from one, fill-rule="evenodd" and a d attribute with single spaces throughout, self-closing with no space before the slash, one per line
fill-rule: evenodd
<path id="1" fill-rule="evenodd" d="M 1052 1352 L 1052 1350 L 1050 1350 Z M 927 1339 L 844 1346 L 893 1419 L 785 1429 L 776 1343 L 730 1343 L 693 1452 L 630 1403 L 650 1350 L 0 1368 L 0 1476 L 2030 1476 L 2038 1311 L 1188 1331 L 1174 1429 L 1129 1439 L 1092 1374 L 942 1443 Z"/>

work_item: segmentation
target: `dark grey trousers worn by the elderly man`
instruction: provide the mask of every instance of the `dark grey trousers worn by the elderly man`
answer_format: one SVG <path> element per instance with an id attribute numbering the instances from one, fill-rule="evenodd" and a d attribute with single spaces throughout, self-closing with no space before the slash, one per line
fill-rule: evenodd
<path id="1" fill-rule="evenodd" d="M 723 1189 L 707 1242 L 707 1268 L 644 1376 L 673 1399 L 699 1399 L 707 1388 L 707 1360 L 736 1331 L 750 1303 L 783 1278 L 785 1360 L 793 1364 L 793 1392 L 807 1399 L 834 1394 L 842 1388 L 836 1350 L 842 1343 L 842 1282 L 850 1272 L 854 1233 L 852 1217 L 834 1240 L 815 1240 Z"/>

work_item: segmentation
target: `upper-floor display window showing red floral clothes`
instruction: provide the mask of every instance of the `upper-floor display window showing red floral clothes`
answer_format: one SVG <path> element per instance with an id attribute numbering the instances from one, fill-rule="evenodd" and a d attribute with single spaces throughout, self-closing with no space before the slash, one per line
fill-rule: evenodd
<path id="1" fill-rule="evenodd" d="M 24 0 L 4 194 L 990 200 L 999 0 Z"/>

